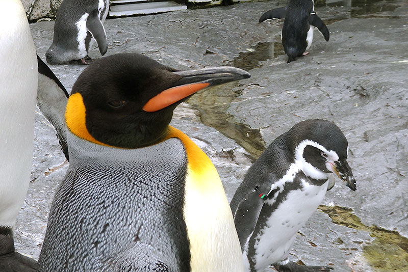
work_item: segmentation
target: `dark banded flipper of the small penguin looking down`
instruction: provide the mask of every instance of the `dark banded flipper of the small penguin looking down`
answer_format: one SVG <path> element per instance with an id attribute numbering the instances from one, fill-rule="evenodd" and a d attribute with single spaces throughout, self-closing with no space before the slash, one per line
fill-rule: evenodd
<path id="1" fill-rule="evenodd" d="M 238 204 L 235 228 L 239 234 L 238 238 L 242 251 L 248 236 L 253 232 L 256 226 L 263 204 L 264 200 L 259 197 L 257 192 L 250 193 Z"/>

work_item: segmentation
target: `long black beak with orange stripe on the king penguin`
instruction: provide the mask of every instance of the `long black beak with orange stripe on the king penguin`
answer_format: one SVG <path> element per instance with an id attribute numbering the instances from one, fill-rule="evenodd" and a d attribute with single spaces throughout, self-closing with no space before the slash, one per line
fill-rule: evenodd
<path id="1" fill-rule="evenodd" d="M 199 90 L 250 77 L 248 72 L 230 66 L 176 71 L 173 74 L 182 76 L 176 81 L 176 86 L 166 89 L 151 98 L 143 106 L 143 111 L 157 112 L 169 105 L 182 101 Z"/>

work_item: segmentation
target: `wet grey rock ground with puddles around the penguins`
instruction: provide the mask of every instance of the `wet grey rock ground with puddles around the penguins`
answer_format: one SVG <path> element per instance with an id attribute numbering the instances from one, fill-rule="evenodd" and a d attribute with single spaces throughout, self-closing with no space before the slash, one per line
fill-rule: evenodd
<path id="1" fill-rule="evenodd" d="M 183 70 L 221 65 L 249 70 L 249 79 L 192 96 L 172 122 L 210 156 L 228 199 L 252 159 L 279 134 L 304 119 L 334 121 L 349 141 L 357 191 L 339 181 L 327 192 L 321 209 L 299 231 L 291 259 L 335 271 L 406 271 L 408 5 L 353 3 L 360 6 L 316 8 L 330 40 L 315 31 L 310 55 L 290 64 L 282 55 L 283 22 L 258 23 L 263 12 L 285 6 L 283 1 L 107 19 L 107 55 L 139 52 Z M 44 59 L 54 22 L 30 26 Z M 95 46 L 90 56 L 100 57 Z M 52 67 L 68 90 L 84 68 Z M 37 112 L 32 182 L 15 231 L 16 249 L 35 258 L 68 167 L 55 130 Z"/>

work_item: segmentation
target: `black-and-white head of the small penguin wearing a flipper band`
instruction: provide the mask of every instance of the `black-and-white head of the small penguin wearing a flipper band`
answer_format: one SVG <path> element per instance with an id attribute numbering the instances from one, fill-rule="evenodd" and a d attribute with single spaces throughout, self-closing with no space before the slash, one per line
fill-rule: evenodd
<path id="1" fill-rule="evenodd" d="M 355 191 L 355 179 L 347 163 L 348 142 L 338 126 L 320 119 L 306 120 L 296 124 L 289 134 L 295 156 L 321 172 L 336 173 Z"/>

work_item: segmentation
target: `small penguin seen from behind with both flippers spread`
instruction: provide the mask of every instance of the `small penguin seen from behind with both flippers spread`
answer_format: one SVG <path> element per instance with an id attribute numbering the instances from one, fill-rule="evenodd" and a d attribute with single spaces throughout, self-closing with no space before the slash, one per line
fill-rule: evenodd
<path id="1" fill-rule="evenodd" d="M 324 22 L 314 11 L 313 0 L 289 0 L 286 7 L 273 9 L 265 12 L 259 22 L 278 18 L 284 20 L 282 28 L 282 45 L 286 55 L 287 63 L 294 61 L 296 57 L 308 55 L 305 52 L 310 48 L 313 41 L 313 26 L 316 26 L 328 41 L 329 32 Z"/>

